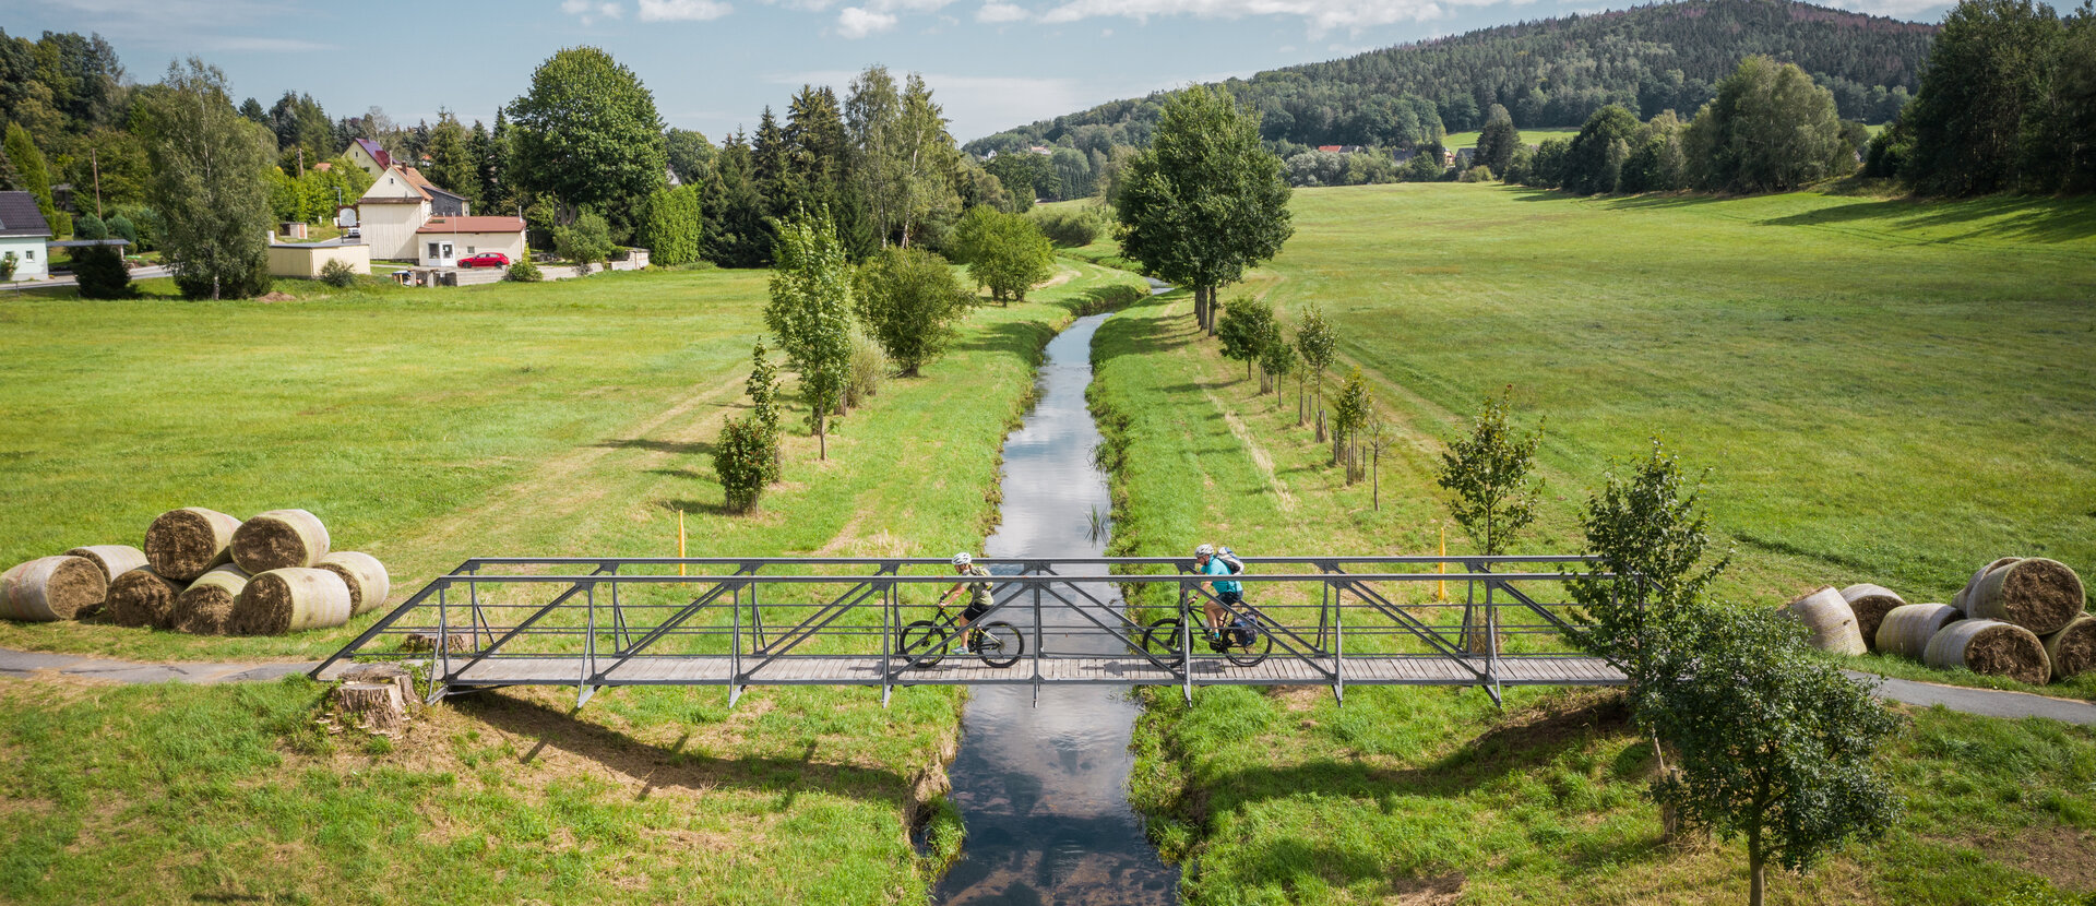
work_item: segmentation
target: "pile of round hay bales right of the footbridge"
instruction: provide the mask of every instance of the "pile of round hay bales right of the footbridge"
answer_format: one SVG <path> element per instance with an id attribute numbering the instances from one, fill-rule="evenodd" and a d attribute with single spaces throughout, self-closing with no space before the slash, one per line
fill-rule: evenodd
<path id="1" fill-rule="evenodd" d="M 1930 667 L 1966 667 L 2027 684 L 2096 671 L 2096 617 L 2083 612 L 2081 577 L 2058 560 L 2000 558 L 1972 573 L 1951 604 L 1907 604 L 1880 585 L 1849 585 L 1838 604 L 1819 589 L 1786 610 L 1813 629 L 1813 646 L 1861 654 L 1870 648 Z"/>

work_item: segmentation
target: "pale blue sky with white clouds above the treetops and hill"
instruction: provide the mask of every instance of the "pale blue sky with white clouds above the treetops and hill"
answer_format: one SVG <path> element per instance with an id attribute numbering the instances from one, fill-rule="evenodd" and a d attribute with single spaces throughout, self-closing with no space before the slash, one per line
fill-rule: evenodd
<path id="1" fill-rule="evenodd" d="M 1824 0 L 1821 0 L 1824 2 Z M 99 31 L 136 82 L 201 57 L 235 99 L 306 92 L 331 117 L 495 111 L 566 46 L 610 50 L 667 126 L 719 143 L 784 115 L 801 84 L 845 92 L 880 63 L 922 73 L 962 143 L 1153 90 L 1622 8 L 1599 0 L 4 0 L 0 29 Z M 1935 0 L 1834 6 L 1941 21 Z"/>

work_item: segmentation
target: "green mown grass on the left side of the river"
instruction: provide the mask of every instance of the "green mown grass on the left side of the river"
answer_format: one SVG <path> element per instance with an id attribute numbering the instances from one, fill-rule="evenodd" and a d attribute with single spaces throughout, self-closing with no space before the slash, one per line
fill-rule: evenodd
<path id="1" fill-rule="evenodd" d="M 744 405 L 765 273 L 377 292 L 291 304 L 0 304 L 10 560 L 132 541 L 184 503 L 302 505 L 386 558 L 396 600 L 474 554 L 926 554 L 977 545 L 998 443 L 1050 329 L 1119 273 L 1065 262 L 981 308 L 926 378 L 830 438 L 788 411 L 786 482 L 719 514 L 706 459 Z M 788 388 L 792 382 L 788 380 Z M 901 451 L 897 455 L 897 451 Z M 0 646 L 319 656 L 352 627 L 224 640 L 0 625 Z M 507 690 L 398 742 L 327 736 L 319 686 L 0 684 L 0 900 L 918 902 L 905 824 L 958 696 Z M 945 818 L 947 845 L 956 841 Z"/>

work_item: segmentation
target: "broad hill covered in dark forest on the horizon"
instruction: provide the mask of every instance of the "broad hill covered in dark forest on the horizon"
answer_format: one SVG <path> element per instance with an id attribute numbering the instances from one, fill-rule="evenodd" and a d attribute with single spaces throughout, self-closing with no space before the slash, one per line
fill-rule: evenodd
<path id="1" fill-rule="evenodd" d="M 1796 63 L 1834 90 L 1840 115 L 1886 122 L 1920 84 L 1937 27 L 1790 0 L 1683 0 L 1524 21 L 1272 69 L 1224 86 L 1262 115 L 1268 141 L 1392 145 L 1484 124 L 1501 103 L 1518 126 L 1578 126 L 1610 103 L 1643 117 L 1694 115 L 1710 84 L 1750 55 Z M 968 151 L 1147 145 L 1161 94 L 1113 101 L 968 143 Z"/>

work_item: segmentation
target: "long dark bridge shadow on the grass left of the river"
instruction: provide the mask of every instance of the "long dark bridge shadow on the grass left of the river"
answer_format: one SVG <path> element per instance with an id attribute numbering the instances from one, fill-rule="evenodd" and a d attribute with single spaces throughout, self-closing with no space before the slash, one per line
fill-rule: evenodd
<path id="1" fill-rule="evenodd" d="M 534 747 L 526 751 L 526 759 L 545 747 L 558 747 L 618 774 L 643 778 L 637 799 L 648 799 L 654 791 L 662 789 L 698 795 L 725 784 L 786 793 L 786 803 L 803 786 L 864 801 L 910 803 L 910 778 L 891 770 L 820 761 L 813 742 L 809 742 L 801 757 L 752 755 L 727 759 L 683 751 L 681 742 L 669 749 L 641 742 L 625 732 L 585 721 L 574 713 L 501 692 L 461 696 L 453 700 L 453 707 L 501 732 L 532 740 Z"/>

